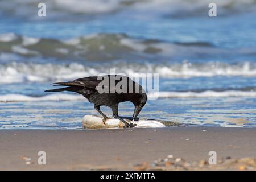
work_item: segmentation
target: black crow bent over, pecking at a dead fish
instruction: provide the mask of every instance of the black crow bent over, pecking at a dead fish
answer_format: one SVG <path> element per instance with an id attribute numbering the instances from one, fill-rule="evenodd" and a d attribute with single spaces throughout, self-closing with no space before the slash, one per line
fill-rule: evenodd
<path id="1" fill-rule="evenodd" d="M 68 82 L 53 83 L 54 86 L 68 86 L 65 88 L 46 90 L 45 92 L 76 92 L 94 104 L 96 109 L 105 119 L 108 117 L 102 113 L 100 106 L 108 106 L 112 109 L 113 117 L 125 123 L 125 127 L 134 127 L 135 124 L 127 123 L 118 115 L 118 104 L 120 102 L 133 102 L 135 119 L 142 107 L 146 104 L 147 94 L 141 85 L 123 75 L 105 75 L 79 78 Z"/>

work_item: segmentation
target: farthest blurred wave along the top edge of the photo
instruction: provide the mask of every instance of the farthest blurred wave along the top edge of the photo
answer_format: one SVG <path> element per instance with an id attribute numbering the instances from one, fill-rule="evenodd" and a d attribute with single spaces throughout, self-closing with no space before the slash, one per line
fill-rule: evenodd
<path id="1" fill-rule="evenodd" d="M 24 17 L 27 19 L 38 19 L 34 14 L 34 7 L 37 7 L 39 0 L 27 1 L 1 1 L 0 9 L 6 12 L 6 15 L 13 15 Z M 47 5 L 47 12 L 51 14 L 51 19 L 63 19 L 63 16 L 81 15 L 85 14 L 105 14 L 116 13 L 118 11 L 130 10 L 133 13 L 158 12 L 162 14 L 170 14 L 175 17 L 179 16 L 192 16 L 205 14 L 205 8 L 208 7 L 211 0 L 46 0 L 44 3 Z M 255 10 L 254 0 L 216 0 L 214 3 L 218 6 L 218 13 L 229 14 L 234 12 L 247 12 Z M 229 11 L 226 11 L 229 10 Z M 181 13 L 182 12 L 182 13 Z M 84 16 L 82 16 L 84 17 Z M 66 19 L 65 19 L 66 20 Z"/>

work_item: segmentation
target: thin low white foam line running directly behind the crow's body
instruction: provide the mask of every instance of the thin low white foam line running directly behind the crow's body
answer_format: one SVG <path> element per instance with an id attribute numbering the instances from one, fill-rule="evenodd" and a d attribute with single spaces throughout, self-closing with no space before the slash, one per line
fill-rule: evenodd
<path id="1" fill-rule="evenodd" d="M 240 91 L 240 90 L 226 90 L 222 92 L 216 92 L 207 90 L 204 92 L 158 92 L 148 93 L 148 99 L 156 98 L 208 98 L 208 97 L 256 97 L 255 91 Z M 23 94 L 5 94 L 0 95 L 0 102 L 27 102 L 27 101 L 75 101 L 84 100 L 83 96 L 79 94 L 49 94 L 46 96 L 26 96 Z"/>

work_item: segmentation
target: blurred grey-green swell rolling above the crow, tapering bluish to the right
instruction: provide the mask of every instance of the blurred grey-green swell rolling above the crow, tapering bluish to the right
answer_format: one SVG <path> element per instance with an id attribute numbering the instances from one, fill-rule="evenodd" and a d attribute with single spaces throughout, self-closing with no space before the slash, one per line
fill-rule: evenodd
<path id="1" fill-rule="evenodd" d="M 0 35 L 0 56 L 12 54 L 27 60 L 56 60 L 71 62 L 109 61 L 161 61 L 190 58 L 230 59 L 255 55 L 253 48 L 226 49 L 210 42 L 166 42 L 157 39 L 143 39 L 126 34 L 91 34 L 69 40 L 33 38 L 13 33 Z M 1 58 L 1 57 L 0 57 Z M 2 61 L 2 59 L 0 59 Z"/>

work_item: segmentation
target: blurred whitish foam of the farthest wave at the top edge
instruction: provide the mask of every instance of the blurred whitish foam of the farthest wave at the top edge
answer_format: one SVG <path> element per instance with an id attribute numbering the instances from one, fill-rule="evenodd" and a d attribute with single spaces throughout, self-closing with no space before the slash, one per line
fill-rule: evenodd
<path id="1" fill-rule="evenodd" d="M 7 2 L 3 1 L 0 5 L 3 6 L 4 9 L 15 9 L 14 5 L 10 5 Z M 31 11 L 31 6 L 34 5 L 35 0 L 26 0 L 26 1 L 18 1 L 16 0 L 14 4 L 18 3 L 18 7 L 22 7 L 25 9 L 27 7 L 27 11 Z M 148 0 L 148 1 L 134 1 L 134 0 L 46 0 L 44 1 L 47 5 L 49 5 L 49 10 L 54 11 L 66 11 L 67 13 L 108 13 L 113 10 L 120 10 L 123 7 L 131 7 L 133 9 L 139 10 L 159 10 L 159 11 L 167 11 L 167 10 L 184 10 L 184 11 L 192 11 L 197 10 L 200 7 L 205 7 L 205 5 L 209 5 L 211 0 L 195 0 L 195 1 L 180 1 L 180 0 Z M 255 4 L 254 0 L 215 0 L 214 3 L 218 5 L 218 7 L 226 7 L 232 8 L 237 6 L 253 6 Z M 125 5 L 127 4 L 127 5 Z M 25 7 L 24 7 L 25 6 Z M 26 11 L 25 11 L 26 12 Z M 19 13 L 19 12 L 18 12 Z"/>

